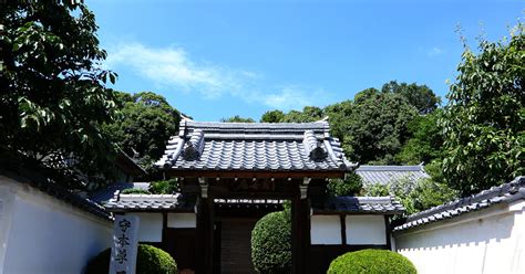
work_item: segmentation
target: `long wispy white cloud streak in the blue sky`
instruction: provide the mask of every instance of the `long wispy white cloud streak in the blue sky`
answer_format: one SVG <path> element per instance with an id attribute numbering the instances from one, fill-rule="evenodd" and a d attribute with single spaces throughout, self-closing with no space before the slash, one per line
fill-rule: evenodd
<path id="1" fill-rule="evenodd" d="M 206 99 L 234 96 L 248 103 L 264 104 L 284 110 L 319 105 L 316 97 L 322 91 L 294 85 L 272 87 L 262 93 L 264 77 L 257 72 L 197 63 L 181 48 L 153 49 L 140 43 L 127 43 L 109 50 L 104 65 L 117 71 L 131 68 L 137 76 L 163 88 L 196 93 Z M 316 104 L 317 103 L 317 104 Z"/>

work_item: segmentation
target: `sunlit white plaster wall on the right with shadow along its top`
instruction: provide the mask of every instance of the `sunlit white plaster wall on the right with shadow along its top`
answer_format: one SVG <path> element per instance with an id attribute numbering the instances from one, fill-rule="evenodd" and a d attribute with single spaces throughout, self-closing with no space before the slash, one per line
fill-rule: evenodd
<path id="1" fill-rule="evenodd" d="M 525 201 L 397 233 L 419 273 L 525 273 Z"/>

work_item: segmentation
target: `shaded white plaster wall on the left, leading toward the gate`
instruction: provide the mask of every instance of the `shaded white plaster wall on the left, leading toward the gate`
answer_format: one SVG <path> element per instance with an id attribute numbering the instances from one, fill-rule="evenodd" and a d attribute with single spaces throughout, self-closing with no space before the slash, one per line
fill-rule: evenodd
<path id="1" fill-rule="evenodd" d="M 112 223 L 0 176 L 0 274 L 82 273 Z"/>

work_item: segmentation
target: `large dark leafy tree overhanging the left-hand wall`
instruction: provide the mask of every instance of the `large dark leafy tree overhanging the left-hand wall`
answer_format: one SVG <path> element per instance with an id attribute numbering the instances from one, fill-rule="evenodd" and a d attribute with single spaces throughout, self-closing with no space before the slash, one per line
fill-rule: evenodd
<path id="1" fill-rule="evenodd" d="M 116 148 L 100 125 L 116 114 L 104 87 L 116 74 L 100 66 L 93 13 L 76 1 L 9 1 L 0 20 L 0 150 L 62 175 L 110 176 Z"/>

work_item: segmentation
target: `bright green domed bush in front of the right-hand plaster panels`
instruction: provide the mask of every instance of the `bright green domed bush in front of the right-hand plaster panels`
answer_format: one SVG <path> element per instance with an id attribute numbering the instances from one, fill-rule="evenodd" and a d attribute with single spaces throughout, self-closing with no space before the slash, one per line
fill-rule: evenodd
<path id="1" fill-rule="evenodd" d="M 328 274 L 381 273 L 415 274 L 414 265 L 403 255 L 388 250 L 361 250 L 336 257 Z"/>

